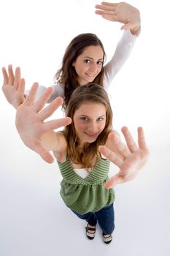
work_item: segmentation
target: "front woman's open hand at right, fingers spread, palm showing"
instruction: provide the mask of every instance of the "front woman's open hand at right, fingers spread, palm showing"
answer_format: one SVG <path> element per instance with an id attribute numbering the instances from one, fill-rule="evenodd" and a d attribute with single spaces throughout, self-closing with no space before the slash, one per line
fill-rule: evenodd
<path id="1" fill-rule="evenodd" d="M 142 127 L 138 128 L 138 146 L 127 127 L 123 127 L 122 132 L 125 137 L 126 146 L 114 133 L 109 134 L 109 140 L 115 145 L 120 156 L 123 156 L 123 158 L 120 157 L 119 154 L 110 151 L 105 146 L 99 146 L 98 148 L 101 154 L 120 168 L 119 172 L 115 176 L 112 176 L 112 178 L 109 178 L 104 184 L 106 189 L 134 179 L 149 157 L 149 150 L 144 140 Z"/>

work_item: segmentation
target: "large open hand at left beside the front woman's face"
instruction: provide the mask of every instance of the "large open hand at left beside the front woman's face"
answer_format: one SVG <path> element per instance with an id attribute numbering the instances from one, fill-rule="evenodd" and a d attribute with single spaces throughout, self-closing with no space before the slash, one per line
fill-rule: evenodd
<path id="1" fill-rule="evenodd" d="M 71 118 L 61 118 L 44 122 L 54 111 L 63 103 L 63 99 L 58 97 L 53 100 L 46 108 L 45 103 L 53 94 L 52 88 L 47 88 L 39 100 L 34 102 L 38 83 L 34 83 L 29 91 L 28 97 L 21 104 L 16 113 L 15 124 L 20 138 L 28 148 L 38 153 L 42 159 L 48 163 L 53 162 L 53 156 L 42 146 L 42 134 L 50 129 L 57 129 L 71 123 Z M 43 108 L 43 109 L 42 109 Z"/>

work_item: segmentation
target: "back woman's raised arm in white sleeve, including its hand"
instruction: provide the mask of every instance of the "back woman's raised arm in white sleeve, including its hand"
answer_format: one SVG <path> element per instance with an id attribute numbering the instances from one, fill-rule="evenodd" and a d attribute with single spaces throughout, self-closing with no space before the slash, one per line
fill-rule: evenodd
<path id="1" fill-rule="evenodd" d="M 136 35 L 140 32 L 140 12 L 125 2 L 118 4 L 102 2 L 101 5 L 96 5 L 96 8 L 98 9 L 96 14 L 101 15 L 102 18 L 124 23 L 121 28 L 124 29 L 123 37 L 117 44 L 114 56 L 104 67 L 104 87 L 108 89 L 112 79 L 115 78 L 117 72 L 123 67 L 134 47 Z"/>

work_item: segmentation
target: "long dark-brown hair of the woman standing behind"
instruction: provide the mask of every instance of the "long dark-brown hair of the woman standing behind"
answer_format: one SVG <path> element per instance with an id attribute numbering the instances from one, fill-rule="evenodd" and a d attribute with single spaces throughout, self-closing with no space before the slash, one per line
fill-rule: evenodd
<path id="1" fill-rule="evenodd" d="M 80 34 L 77 37 L 74 37 L 72 41 L 69 43 L 68 47 L 63 56 L 63 61 L 61 64 L 61 69 L 58 69 L 58 72 L 55 74 L 55 83 L 63 84 L 64 86 L 64 103 L 63 108 L 66 108 L 66 105 L 69 103 L 69 99 L 72 95 L 74 89 L 76 89 L 80 84 L 77 81 L 77 72 L 75 71 L 72 64 L 77 60 L 77 57 L 82 54 L 86 47 L 94 45 L 100 45 L 103 53 L 104 60 L 106 59 L 106 53 L 104 51 L 104 46 L 100 39 L 96 36 L 96 34 L 85 33 Z M 104 61 L 103 61 L 104 63 Z M 93 83 L 100 84 L 103 86 L 103 76 L 104 69 L 97 75 L 97 77 L 93 80 Z"/>

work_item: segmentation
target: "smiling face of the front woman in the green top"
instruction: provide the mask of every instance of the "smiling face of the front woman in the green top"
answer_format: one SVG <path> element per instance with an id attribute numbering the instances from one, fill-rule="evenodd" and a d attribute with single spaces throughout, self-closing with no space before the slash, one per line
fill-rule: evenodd
<path id="1" fill-rule="evenodd" d="M 74 128 L 83 143 L 92 143 L 104 130 L 106 124 L 106 108 L 101 103 L 82 103 L 74 113 Z"/>

